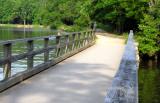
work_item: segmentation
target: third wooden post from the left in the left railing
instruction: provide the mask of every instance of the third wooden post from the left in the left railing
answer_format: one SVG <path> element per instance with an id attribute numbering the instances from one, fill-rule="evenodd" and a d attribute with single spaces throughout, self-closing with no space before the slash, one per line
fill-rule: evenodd
<path id="1" fill-rule="evenodd" d="M 44 62 L 47 62 L 49 60 L 49 50 L 47 50 L 48 43 L 49 43 L 49 38 L 44 38 L 44 49 L 46 50 L 44 52 Z"/>

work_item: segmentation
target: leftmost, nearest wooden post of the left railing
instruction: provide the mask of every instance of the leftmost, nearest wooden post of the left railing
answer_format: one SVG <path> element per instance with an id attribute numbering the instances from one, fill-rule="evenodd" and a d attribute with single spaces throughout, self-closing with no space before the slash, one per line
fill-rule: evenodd
<path id="1" fill-rule="evenodd" d="M 8 43 L 3 45 L 4 48 L 4 58 L 8 58 L 7 63 L 4 64 L 3 74 L 4 79 L 11 77 L 11 56 L 12 56 L 12 44 Z"/>

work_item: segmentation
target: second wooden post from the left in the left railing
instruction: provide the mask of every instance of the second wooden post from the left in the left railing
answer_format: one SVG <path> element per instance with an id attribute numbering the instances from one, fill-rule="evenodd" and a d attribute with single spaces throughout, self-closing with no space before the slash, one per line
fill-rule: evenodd
<path id="1" fill-rule="evenodd" d="M 33 40 L 29 40 L 27 41 L 27 49 L 28 49 L 28 53 L 32 52 L 34 50 L 34 44 L 33 44 Z M 33 56 L 29 55 L 27 57 L 27 69 L 32 69 L 33 68 Z"/>

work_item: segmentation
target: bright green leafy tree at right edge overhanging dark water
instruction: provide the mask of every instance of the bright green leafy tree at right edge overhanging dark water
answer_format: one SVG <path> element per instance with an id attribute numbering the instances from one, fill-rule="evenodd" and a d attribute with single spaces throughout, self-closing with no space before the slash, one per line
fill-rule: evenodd
<path id="1" fill-rule="evenodd" d="M 139 25 L 139 51 L 150 57 L 155 56 L 160 51 L 160 12 L 157 6 L 160 6 L 160 2 L 148 9 L 148 13 L 144 14 Z"/>

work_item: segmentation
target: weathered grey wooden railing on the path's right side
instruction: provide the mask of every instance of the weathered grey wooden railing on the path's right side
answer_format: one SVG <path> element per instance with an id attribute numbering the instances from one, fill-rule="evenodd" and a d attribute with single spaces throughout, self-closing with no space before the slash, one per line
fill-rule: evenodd
<path id="1" fill-rule="evenodd" d="M 105 103 L 138 103 L 138 49 L 130 31 L 119 70 L 108 89 Z"/>

